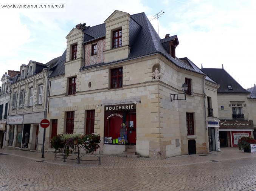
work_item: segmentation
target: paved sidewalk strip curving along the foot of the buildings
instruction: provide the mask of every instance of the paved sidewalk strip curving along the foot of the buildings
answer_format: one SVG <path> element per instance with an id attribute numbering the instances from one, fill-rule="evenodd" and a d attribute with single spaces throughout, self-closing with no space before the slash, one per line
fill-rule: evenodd
<path id="1" fill-rule="evenodd" d="M 63 159 L 57 158 L 54 160 L 54 153 L 45 153 L 45 158 L 41 158 L 42 153 L 35 153 L 31 151 L 23 150 L 3 150 L 0 149 L 0 153 L 9 154 L 18 157 L 24 157 L 27 159 L 33 159 L 37 162 L 47 162 L 56 165 L 68 165 L 72 167 L 82 168 L 143 168 L 143 167 L 172 167 L 182 166 L 189 164 L 199 164 L 206 162 L 220 162 L 224 160 L 240 160 L 244 158 L 255 157 L 256 154 L 244 153 L 238 148 L 221 148 L 221 152 L 214 152 L 210 154 L 194 154 L 170 157 L 167 159 L 150 159 L 150 158 L 126 158 L 117 156 L 101 155 L 101 165 L 97 161 L 81 161 L 80 164 L 76 160 L 67 160 L 63 162 Z M 96 157 L 84 156 L 84 159 L 96 160 Z"/>

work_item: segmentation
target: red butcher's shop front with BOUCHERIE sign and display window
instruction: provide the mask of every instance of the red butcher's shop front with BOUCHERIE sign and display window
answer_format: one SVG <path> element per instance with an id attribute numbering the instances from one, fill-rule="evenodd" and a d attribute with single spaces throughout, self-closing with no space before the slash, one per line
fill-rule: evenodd
<path id="1" fill-rule="evenodd" d="M 136 145 L 136 105 L 106 105 L 104 144 Z"/>

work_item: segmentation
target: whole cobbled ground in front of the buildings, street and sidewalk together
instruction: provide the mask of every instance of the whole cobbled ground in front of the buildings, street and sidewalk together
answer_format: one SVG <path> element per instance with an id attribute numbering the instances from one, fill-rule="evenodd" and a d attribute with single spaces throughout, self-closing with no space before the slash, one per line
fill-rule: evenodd
<path id="1" fill-rule="evenodd" d="M 0 190 L 256 190 L 256 154 L 237 148 L 164 160 L 102 156 L 102 165 L 54 161 L 52 153 L 44 161 L 40 153 L 0 153 Z"/>

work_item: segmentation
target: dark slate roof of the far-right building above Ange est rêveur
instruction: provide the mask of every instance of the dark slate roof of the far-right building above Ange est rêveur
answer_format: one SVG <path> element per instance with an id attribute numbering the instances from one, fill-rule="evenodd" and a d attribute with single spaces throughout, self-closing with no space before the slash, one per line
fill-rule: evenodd
<path id="1" fill-rule="evenodd" d="M 211 79 L 220 84 L 218 93 L 250 93 L 245 90 L 239 83 L 223 68 L 202 68 Z M 228 85 L 231 85 L 232 90 L 228 89 Z"/>

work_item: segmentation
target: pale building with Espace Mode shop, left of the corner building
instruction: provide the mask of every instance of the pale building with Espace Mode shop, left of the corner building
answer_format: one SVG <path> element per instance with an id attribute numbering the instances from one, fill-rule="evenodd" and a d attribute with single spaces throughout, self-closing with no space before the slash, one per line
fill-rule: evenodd
<path id="1" fill-rule="evenodd" d="M 57 59 L 46 64 L 31 60 L 20 67 L 20 74 L 11 85 L 6 148 L 42 150 L 43 128 L 39 123 L 46 107 L 47 68 Z"/>

